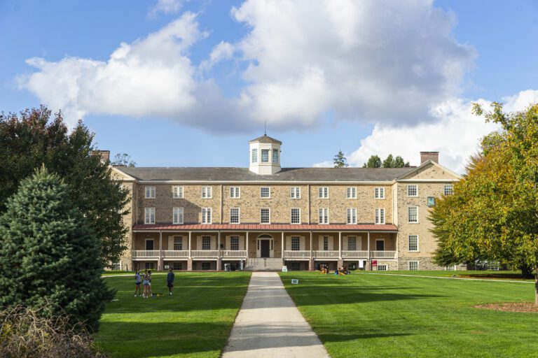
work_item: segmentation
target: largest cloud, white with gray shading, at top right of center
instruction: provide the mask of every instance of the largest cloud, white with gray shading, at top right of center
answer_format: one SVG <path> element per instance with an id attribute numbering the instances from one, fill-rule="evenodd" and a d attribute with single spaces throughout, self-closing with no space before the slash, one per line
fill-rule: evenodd
<path id="1" fill-rule="evenodd" d="M 433 1 L 247 0 L 236 47 L 250 62 L 241 103 L 252 117 L 311 126 L 336 118 L 416 123 L 457 96 L 476 52 L 457 43 Z"/>

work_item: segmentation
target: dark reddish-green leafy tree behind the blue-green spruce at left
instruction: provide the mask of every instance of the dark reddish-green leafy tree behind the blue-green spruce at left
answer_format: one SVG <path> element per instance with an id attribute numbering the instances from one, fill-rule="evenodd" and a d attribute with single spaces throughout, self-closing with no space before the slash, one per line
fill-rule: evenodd
<path id="1" fill-rule="evenodd" d="M 108 163 L 92 155 L 93 136 L 82 122 L 69 132 L 62 113 L 52 117 L 44 106 L 20 115 L 0 113 L 0 214 L 20 181 L 45 164 L 69 186 L 71 202 L 101 240 L 99 256 L 108 265 L 127 248 L 128 190 L 111 180 Z"/>

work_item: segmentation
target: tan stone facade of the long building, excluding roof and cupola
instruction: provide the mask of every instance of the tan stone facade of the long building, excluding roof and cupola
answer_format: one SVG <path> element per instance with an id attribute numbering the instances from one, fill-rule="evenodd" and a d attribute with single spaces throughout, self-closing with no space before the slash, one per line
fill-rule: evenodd
<path id="1" fill-rule="evenodd" d="M 264 240 L 269 243 L 270 257 L 284 258 L 284 262 L 293 266 L 293 269 L 314 269 L 322 263 L 329 264 L 331 270 L 343 265 L 371 269 L 371 261 L 374 259 L 377 267 L 382 266 L 388 271 L 408 270 L 409 262 L 417 262 L 413 264 L 413 268 L 416 266 L 419 270 L 444 269 L 432 261 L 437 243 L 430 232 L 432 224 L 428 215 L 431 210 L 429 201 L 432 199 L 429 198 L 436 200 L 444 194 L 445 185 L 451 185 L 460 179 L 455 173 L 432 161 L 403 171 L 405 175 L 394 180 L 375 182 L 323 182 L 316 178 L 275 182 L 264 181 L 262 175 L 253 182 L 207 181 L 205 178 L 200 178 L 197 182 L 142 182 L 127 172 L 125 170 L 124 173 L 122 168 L 113 168 L 113 179 L 123 182 L 123 187 L 129 189 L 132 198 L 128 204 L 129 214 L 124 217 L 125 227 L 129 232 L 126 238 L 127 250 L 120 262 L 123 269 L 146 268 L 147 265 L 160 269 L 173 266 L 181 270 L 219 270 L 223 269 L 225 263 L 239 266 L 240 261 L 247 262 L 249 258 L 260 257 L 261 243 Z M 416 195 L 408 194 L 409 185 L 416 186 Z M 181 198 L 174 198 L 174 187 L 177 186 L 182 188 Z M 155 198 L 146 198 L 146 187 L 155 187 Z M 211 188 L 211 196 L 202 196 L 202 188 L 205 187 Z M 240 188 L 239 193 L 234 190 L 234 194 L 230 194 L 235 187 Z M 262 187 L 269 188 L 269 198 L 261 197 Z M 327 198 L 319 197 L 320 187 L 328 188 Z M 384 197 L 375 198 L 376 188 L 382 188 Z M 349 191 L 355 193 L 351 198 L 347 197 Z M 409 220 L 410 207 L 416 207 L 418 210 L 416 223 Z M 155 208 L 153 226 L 146 225 L 146 208 Z M 174 208 L 183 208 L 182 224 L 173 222 Z M 208 227 L 188 229 L 191 224 L 206 224 L 202 222 L 202 208 L 211 208 L 211 222 Z M 269 229 L 212 229 L 220 224 L 235 224 L 230 222 L 231 208 L 240 210 L 240 221 L 237 224 L 254 226 L 263 224 L 261 208 L 270 209 Z M 293 224 L 296 223 L 291 222 L 292 208 L 300 210 L 298 224 L 315 226 L 317 229 L 294 230 Z M 321 229 L 320 208 L 329 210 L 328 224 L 340 225 L 340 229 Z M 364 224 L 369 229 L 346 230 L 348 208 L 356 209 L 357 220 L 354 224 Z M 384 210 L 384 221 L 375 222 L 375 209 Z M 392 224 L 396 225 L 392 231 L 383 229 Z M 282 225 L 286 225 L 287 229 L 273 229 Z M 380 229 L 376 229 L 377 227 Z M 209 248 L 202 247 L 204 236 L 210 238 Z M 232 236 L 239 238 L 238 245 L 234 248 L 230 246 Z M 409 236 L 418 238 L 417 250 L 410 250 Z M 292 248 L 291 242 L 296 240 L 296 237 L 299 239 L 298 246 Z M 181 245 L 178 245 L 179 242 Z M 177 250 L 178 248 L 180 250 Z M 205 250 L 219 253 L 205 257 Z M 244 257 L 234 257 L 233 250 L 244 252 Z"/>

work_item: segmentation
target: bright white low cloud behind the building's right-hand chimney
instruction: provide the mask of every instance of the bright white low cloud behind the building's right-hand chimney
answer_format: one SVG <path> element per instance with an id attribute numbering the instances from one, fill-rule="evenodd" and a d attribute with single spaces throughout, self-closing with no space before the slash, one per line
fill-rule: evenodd
<path id="1" fill-rule="evenodd" d="M 523 110 L 538 102 L 538 90 L 527 90 L 503 99 L 505 110 Z M 420 151 L 439 151 L 439 162 L 459 173 L 464 170 L 469 156 L 478 152 L 480 139 L 499 129 L 497 124 L 485 123 L 483 117 L 471 113 L 472 103 L 481 103 L 488 109 L 490 101 L 449 99 L 432 109 L 434 122 L 412 127 L 394 127 L 376 124 L 372 134 L 361 140 L 360 147 L 348 157 L 352 166 L 362 166 L 371 155 L 385 159 L 387 155 L 401 155 L 411 165 L 420 164 Z"/>

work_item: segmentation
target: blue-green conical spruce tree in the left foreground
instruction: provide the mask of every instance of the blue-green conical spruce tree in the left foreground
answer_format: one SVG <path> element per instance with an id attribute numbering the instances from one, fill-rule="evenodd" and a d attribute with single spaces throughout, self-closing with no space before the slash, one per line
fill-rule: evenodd
<path id="1" fill-rule="evenodd" d="M 113 297 L 101 278 L 99 238 L 44 168 L 22 180 L 0 216 L 0 306 L 63 310 L 97 330 Z"/>

